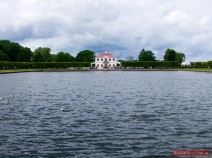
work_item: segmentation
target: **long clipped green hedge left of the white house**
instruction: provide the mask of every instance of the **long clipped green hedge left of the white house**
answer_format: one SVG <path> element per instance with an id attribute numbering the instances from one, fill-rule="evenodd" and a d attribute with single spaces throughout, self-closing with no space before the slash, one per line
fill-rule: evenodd
<path id="1" fill-rule="evenodd" d="M 90 66 L 90 62 L 0 62 L 0 69 L 65 69 L 69 67 Z"/>

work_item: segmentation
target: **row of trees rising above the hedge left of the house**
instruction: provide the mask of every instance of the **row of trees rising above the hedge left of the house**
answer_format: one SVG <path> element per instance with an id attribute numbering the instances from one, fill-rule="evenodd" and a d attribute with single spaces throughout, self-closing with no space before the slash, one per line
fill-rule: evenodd
<path id="1" fill-rule="evenodd" d="M 93 62 L 95 52 L 83 50 L 73 57 L 66 52 L 51 54 L 51 48 L 38 47 L 34 51 L 9 40 L 0 40 L 0 61 L 12 62 Z"/>

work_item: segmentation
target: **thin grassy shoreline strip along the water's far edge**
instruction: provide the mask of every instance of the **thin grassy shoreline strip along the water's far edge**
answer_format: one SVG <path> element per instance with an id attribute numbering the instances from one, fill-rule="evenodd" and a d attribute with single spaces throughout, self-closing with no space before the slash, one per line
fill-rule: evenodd
<path id="1" fill-rule="evenodd" d="M 0 70 L 0 74 L 25 73 L 25 72 L 80 72 L 80 71 L 190 71 L 190 72 L 209 72 L 212 69 L 113 69 L 113 70 L 96 70 L 96 69 L 16 69 Z"/>

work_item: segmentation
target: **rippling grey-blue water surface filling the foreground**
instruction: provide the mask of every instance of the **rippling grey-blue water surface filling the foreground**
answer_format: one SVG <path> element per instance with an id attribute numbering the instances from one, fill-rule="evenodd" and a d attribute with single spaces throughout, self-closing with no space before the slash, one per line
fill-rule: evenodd
<path id="1" fill-rule="evenodd" d="M 0 156 L 142 157 L 211 149 L 211 78 L 194 72 L 0 75 Z"/>

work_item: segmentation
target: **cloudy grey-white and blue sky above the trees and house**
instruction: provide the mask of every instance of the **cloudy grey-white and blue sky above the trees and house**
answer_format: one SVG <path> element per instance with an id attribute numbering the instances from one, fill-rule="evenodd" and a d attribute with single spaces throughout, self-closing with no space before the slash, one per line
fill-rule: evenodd
<path id="1" fill-rule="evenodd" d="M 212 60 L 211 0 L 0 0 L 0 39 L 75 56 L 84 49 L 125 59 L 167 48 Z"/>

